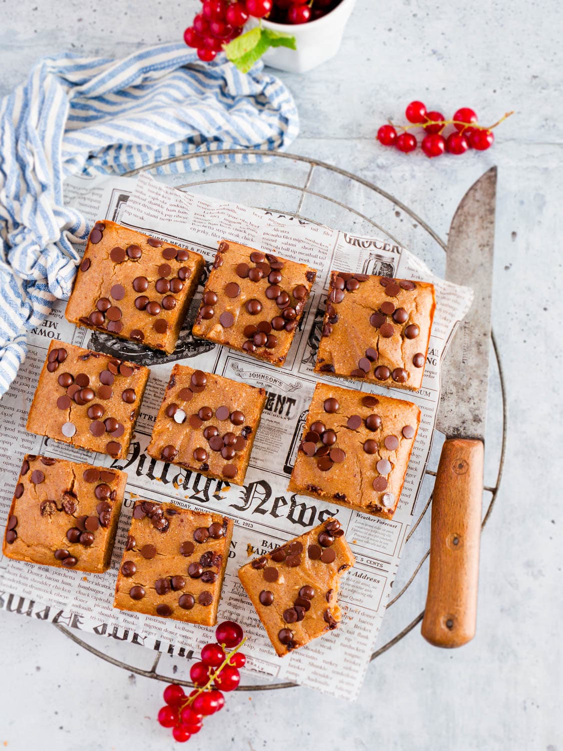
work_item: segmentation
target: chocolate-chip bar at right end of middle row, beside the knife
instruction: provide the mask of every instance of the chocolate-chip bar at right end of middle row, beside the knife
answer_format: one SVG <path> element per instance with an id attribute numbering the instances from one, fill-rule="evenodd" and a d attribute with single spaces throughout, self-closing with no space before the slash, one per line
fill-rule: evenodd
<path id="1" fill-rule="evenodd" d="M 411 402 L 318 383 L 288 490 L 392 518 L 419 422 Z"/>

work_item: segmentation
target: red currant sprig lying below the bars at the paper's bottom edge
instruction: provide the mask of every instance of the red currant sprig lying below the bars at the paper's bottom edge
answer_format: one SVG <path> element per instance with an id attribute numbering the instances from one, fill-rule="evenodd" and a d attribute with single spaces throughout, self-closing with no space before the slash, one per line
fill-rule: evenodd
<path id="1" fill-rule="evenodd" d="M 174 740 L 179 743 L 185 743 L 201 730 L 204 716 L 224 706 L 223 691 L 233 691 L 240 683 L 239 668 L 246 662 L 239 652 L 245 641 L 241 627 L 226 620 L 217 626 L 215 637 L 217 642 L 206 644 L 201 650 L 201 661 L 191 666 L 195 689 L 188 696 L 177 683 L 164 689 L 166 704 L 158 711 L 158 722 L 164 728 L 172 728 Z"/>

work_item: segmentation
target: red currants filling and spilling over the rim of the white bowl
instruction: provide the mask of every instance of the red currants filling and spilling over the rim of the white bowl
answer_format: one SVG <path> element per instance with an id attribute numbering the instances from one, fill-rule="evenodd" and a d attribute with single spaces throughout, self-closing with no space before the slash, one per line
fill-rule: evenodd
<path id="1" fill-rule="evenodd" d="M 326 15 L 340 0 L 201 0 L 201 12 L 184 32 L 188 47 L 204 62 L 215 59 L 225 44 L 242 33 L 249 17 L 275 23 L 307 23 Z"/>

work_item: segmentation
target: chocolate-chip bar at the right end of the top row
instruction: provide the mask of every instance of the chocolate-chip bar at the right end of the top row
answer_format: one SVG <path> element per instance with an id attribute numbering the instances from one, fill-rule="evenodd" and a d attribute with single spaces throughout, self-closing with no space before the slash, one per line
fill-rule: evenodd
<path id="1" fill-rule="evenodd" d="M 434 285 L 332 271 L 315 372 L 417 391 Z"/>

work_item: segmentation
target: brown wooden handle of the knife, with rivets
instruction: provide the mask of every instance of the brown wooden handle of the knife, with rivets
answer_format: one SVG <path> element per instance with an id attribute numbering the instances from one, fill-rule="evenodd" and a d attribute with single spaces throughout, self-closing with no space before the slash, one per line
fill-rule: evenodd
<path id="1" fill-rule="evenodd" d="M 444 443 L 432 497 L 430 570 L 422 635 L 461 647 L 475 635 L 483 498 L 483 442 Z"/>

